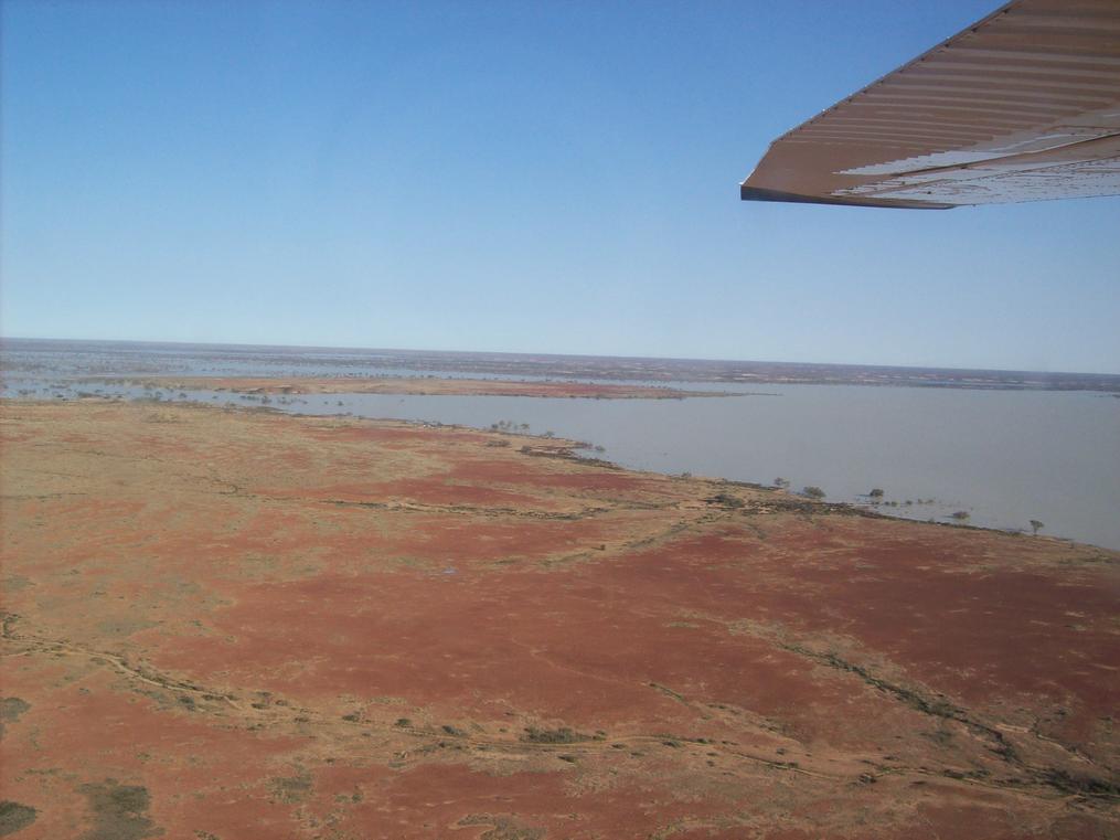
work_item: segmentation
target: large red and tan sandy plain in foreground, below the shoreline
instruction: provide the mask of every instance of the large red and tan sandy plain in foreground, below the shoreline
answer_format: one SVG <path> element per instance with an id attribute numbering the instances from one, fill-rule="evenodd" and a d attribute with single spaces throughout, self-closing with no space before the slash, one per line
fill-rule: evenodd
<path id="1" fill-rule="evenodd" d="M 0 431 L 0 836 L 1120 833 L 1114 553 L 454 428 Z"/>

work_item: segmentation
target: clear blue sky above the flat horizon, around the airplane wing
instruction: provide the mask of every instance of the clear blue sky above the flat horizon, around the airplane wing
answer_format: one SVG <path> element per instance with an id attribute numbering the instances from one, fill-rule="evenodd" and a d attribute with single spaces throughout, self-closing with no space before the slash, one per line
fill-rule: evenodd
<path id="1" fill-rule="evenodd" d="M 0 334 L 1120 372 L 1120 199 L 743 203 L 952 2 L 2 6 Z"/>

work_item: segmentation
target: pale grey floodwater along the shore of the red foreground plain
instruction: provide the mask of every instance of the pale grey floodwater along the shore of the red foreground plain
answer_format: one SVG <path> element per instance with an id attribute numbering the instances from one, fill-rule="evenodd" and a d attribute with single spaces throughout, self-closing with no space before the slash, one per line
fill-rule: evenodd
<path id="1" fill-rule="evenodd" d="M 214 360 L 214 366 L 221 367 L 221 360 Z M 83 383 L 65 373 L 55 381 L 46 373 L 9 376 L 4 395 L 153 395 L 136 386 Z M 1120 549 L 1120 399 L 1110 394 L 659 384 L 744 395 L 587 400 L 338 394 L 273 396 L 269 404 L 299 413 L 478 428 L 498 421 L 528 423 L 533 433 L 551 431 L 603 447 L 589 454 L 626 467 L 760 484 L 782 477 L 794 491 L 815 485 L 838 502 L 866 503 L 864 494 L 879 487 L 884 501 L 894 503 L 880 506 L 885 513 L 945 521 L 964 511 L 971 524 L 1006 530 L 1029 530 L 1030 520 L 1038 520 L 1045 523 L 1044 534 Z M 256 396 L 208 391 L 160 396 L 261 403 Z"/>

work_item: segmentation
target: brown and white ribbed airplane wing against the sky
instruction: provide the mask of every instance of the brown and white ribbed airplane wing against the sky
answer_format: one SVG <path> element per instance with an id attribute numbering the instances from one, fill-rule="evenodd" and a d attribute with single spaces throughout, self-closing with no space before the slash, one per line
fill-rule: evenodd
<path id="1" fill-rule="evenodd" d="M 1120 194 L 1120 0 L 1012 0 L 771 143 L 745 200 Z"/>

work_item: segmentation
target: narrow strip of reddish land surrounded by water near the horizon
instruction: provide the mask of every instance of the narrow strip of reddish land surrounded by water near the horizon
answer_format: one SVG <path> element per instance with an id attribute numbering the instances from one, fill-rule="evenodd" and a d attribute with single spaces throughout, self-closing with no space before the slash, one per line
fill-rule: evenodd
<path id="1" fill-rule="evenodd" d="M 120 381 L 120 380 L 116 380 Z M 722 391 L 682 391 L 664 385 L 594 382 L 516 382 L 513 380 L 437 379 L 433 376 L 251 377 L 149 376 L 140 382 L 176 391 L 233 391 L 246 394 L 444 394 L 468 396 L 584 396 L 597 400 L 679 400 L 729 396 Z"/>

